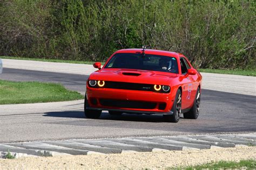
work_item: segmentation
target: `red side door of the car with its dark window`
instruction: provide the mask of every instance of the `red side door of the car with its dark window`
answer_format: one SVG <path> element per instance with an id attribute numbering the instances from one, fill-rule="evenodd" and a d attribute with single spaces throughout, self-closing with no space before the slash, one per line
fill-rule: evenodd
<path id="1" fill-rule="evenodd" d="M 183 94 L 181 97 L 181 100 L 182 100 L 181 109 L 187 109 L 187 108 L 191 108 L 191 105 L 193 104 L 193 101 L 194 101 L 194 96 L 196 95 L 194 93 L 195 80 L 193 79 L 192 75 L 187 75 L 187 69 L 190 68 L 190 65 L 187 63 L 186 59 L 183 57 L 180 57 L 180 68 L 181 68 L 181 74 L 186 76 L 182 80 Z"/>

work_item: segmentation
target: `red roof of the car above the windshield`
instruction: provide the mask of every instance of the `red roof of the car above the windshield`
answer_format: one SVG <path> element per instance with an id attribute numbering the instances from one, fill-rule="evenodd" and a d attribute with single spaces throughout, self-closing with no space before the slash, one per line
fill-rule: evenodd
<path id="1" fill-rule="evenodd" d="M 130 49 L 120 49 L 116 53 L 141 53 L 142 48 L 130 48 Z M 176 52 L 170 52 L 170 51 L 163 51 L 158 49 L 145 49 L 145 54 L 156 54 L 156 55 L 165 55 L 165 56 L 174 56 L 178 57 L 180 55 L 183 56 L 183 54 L 176 53 Z"/>

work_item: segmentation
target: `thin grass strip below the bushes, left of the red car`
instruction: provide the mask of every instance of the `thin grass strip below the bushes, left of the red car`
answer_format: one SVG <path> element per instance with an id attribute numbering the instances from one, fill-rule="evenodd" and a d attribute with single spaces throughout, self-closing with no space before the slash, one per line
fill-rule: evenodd
<path id="1" fill-rule="evenodd" d="M 56 60 L 56 59 L 36 59 L 36 58 L 23 58 L 17 56 L 0 56 L 0 59 L 13 59 L 13 60 L 31 60 L 31 61 L 46 61 L 46 62 L 65 62 L 65 63 L 79 63 L 92 65 L 94 61 L 75 61 L 75 60 Z M 102 62 L 103 65 L 103 62 Z"/>

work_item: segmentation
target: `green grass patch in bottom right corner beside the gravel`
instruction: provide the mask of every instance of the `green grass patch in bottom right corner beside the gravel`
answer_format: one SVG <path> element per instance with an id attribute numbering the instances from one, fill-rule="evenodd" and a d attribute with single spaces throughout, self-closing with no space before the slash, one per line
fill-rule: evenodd
<path id="1" fill-rule="evenodd" d="M 239 162 L 234 161 L 219 161 L 210 164 L 203 164 L 197 166 L 188 166 L 188 167 L 181 167 L 175 169 L 255 169 L 256 168 L 256 160 L 241 160 Z M 168 168 L 173 169 L 173 168 Z"/>

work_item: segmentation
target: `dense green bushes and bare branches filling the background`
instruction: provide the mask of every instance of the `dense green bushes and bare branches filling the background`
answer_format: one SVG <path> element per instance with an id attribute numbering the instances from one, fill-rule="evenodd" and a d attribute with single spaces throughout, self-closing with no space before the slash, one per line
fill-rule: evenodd
<path id="1" fill-rule="evenodd" d="M 0 2 L 0 55 L 104 61 L 148 45 L 198 68 L 255 67 L 254 1 Z"/>

